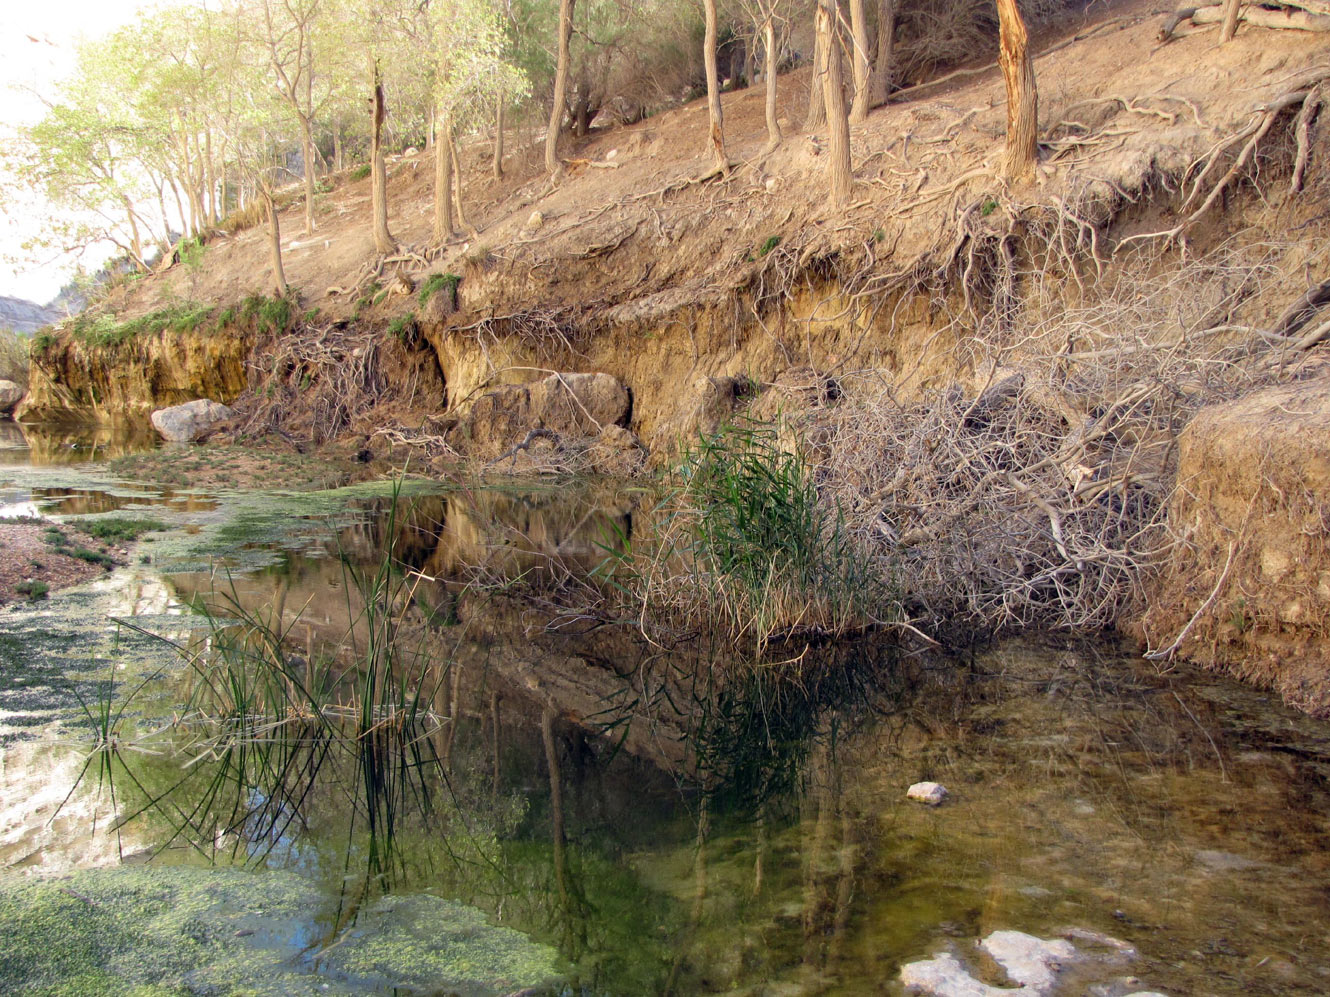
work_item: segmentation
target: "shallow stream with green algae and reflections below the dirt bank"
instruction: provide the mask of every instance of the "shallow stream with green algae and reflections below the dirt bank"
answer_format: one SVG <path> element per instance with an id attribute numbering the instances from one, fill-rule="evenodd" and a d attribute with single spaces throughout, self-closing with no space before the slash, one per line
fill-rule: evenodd
<path id="1" fill-rule="evenodd" d="M 1008 982 L 995 931 L 1079 933 L 1063 993 L 1330 992 L 1330 724 L 1249 687 L 1109 639 L 661 649 L 569 610 L 633 491 L 202 493 L 33 443 L 4 514 L 170 529 L 0 609 L 0 992 L 900 993 L 940 952 Z M 182 717 L 227 619 L 363 653 L 387 550 L 419 736 Z"/>

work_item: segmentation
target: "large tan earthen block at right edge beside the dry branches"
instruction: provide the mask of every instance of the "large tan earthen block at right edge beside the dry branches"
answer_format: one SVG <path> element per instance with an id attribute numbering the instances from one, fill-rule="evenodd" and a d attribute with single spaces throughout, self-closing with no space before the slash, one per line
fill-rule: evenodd
<path id="1" fill-rule="evenodd" d="M 1330 376 L 1202 408 L 1177 485 L 1184 542 L 1132 629 L 1330 714 Z"/>

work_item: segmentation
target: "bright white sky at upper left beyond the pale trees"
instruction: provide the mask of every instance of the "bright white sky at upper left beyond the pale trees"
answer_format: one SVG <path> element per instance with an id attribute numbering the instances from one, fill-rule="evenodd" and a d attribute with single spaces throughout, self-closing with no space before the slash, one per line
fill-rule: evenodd
<path id="1" fill-rule="evenodd" d="M 41 101 L 74 65 L 80 37 L 100 37 L 132 20 L 144 0 L 0 0 L 0 141 L 13 141 L 13 128 L 41 117 Z M 0 294 L 37 303 L 51 300 L 73 273 L 72 261 L 28 258 L 23 242 L 37 234 L 51 209 L 33 195 L 28 203 L 5 203 L 0 225 Z M 85 263 L 101 262 L 86 257 Z"/>

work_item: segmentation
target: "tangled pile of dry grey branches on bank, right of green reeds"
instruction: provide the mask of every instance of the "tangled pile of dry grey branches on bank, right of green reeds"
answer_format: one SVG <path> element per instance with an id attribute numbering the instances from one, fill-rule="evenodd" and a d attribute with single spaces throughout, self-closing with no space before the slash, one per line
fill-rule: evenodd
<path id="1" fill-rule="evenodd" d="M 1019 308 L 966 316 L 982 389 L 849 392 L 826 427 L 822 489 L 904 581 L 918 626 L 1089 630 L 1138 605 L 1178 542 L 1166 512 L 1181 428 L 1204 404 L 1301 376 L 1330 326 L 1314 320 L 1315 290 L 1267 330 L 1236 324 L 1286 250 L 1141 253 L 1071 307 L 1061 275 L 1016 274 Z"/>

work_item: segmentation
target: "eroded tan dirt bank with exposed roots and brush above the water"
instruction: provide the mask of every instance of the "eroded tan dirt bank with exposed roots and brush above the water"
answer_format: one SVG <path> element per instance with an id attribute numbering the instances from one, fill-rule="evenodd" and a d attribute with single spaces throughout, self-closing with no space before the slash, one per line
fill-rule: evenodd
<path id="1" fill-rule="evenodd" d="M 1127 625 L 1161 659 L 1330 709 L 1319 459 L 1295 445 L 1326 432 L 1326 334 L 1319 306 L 1289 322 L 1330 278 L 1330 144 L 1302 114 L 1326 43 L 1157 48 L 1157 29 L 1127 4 L 1052 44 L 1027 185 L 992 169 L 995 72 L 857 126 L 843 211 L 825 206 L 815 141 L 759 156 L 755 93 L 728 97 L 722 178 L 694 157 L 696 108 L 595 134 L 577 161 L 605 169 L 559 185 L 535 166 L 481 181 L 472 146 L 481 234 L 442 250 L 422 161 L 394 167 L 390 258 L 351 223 L 363 183 L 339 179 L 322 255 L 291 250 L 289 328 L 96 348 L 57 332 L 27 412 L 211 396 L 235 404 L 237 439 L 616 473 L 746 415 L 803 440 L 864 556 L 904 580 L 912 625 Z M 786 82 L 793 116 L 807 78 Z M 261 286 L 263 238 L 219 237 L 202 275 L 168 271 L 108 308 L 221 310 Z"/>

